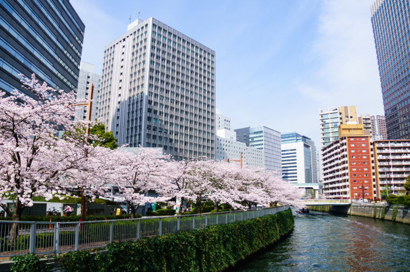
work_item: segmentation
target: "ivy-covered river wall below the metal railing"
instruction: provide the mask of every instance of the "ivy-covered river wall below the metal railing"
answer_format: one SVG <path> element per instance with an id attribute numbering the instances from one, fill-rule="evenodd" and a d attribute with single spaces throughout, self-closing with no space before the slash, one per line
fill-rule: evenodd
<path id="1" fill-rule="evenodd" d="M 210 226 L 202 230 L 141 238 L 132 242 L 114 242 L 106 246 L 107 255 L 96 256 L 93 270 L 222 271 L 277 241 L 293 225 L 292 211 L 288 209 L 273 215 Z"/>

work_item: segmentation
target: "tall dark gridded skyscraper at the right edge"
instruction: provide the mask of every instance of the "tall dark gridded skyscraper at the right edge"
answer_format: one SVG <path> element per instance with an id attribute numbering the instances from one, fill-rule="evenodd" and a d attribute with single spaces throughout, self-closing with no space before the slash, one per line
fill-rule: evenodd
<path id="1" fill-rule="evenodd" d="M 387 139 L 408 139 L 408 1 L 376 0 L 371 10 Z"/>

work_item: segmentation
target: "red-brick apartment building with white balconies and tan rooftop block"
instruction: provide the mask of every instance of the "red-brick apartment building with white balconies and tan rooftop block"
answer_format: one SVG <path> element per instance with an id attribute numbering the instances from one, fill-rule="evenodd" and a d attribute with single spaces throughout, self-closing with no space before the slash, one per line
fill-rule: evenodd
<path id="1" fill-rule="evenodd" d="M 339 139 L 322 147 L 323 194 L 327 199 L 374 199 L 372 136 L 362 124 L 339 125 Z"/>

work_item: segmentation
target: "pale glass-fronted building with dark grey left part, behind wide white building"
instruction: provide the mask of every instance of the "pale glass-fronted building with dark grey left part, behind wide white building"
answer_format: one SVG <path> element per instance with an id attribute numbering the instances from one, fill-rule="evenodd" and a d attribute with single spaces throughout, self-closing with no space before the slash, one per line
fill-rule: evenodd
<path id="1" fill-rule="evenodd" d="M 255 147 L 265 153 L 265 168 L 282 172 L 282 150 L 280 149 L 280 132 L 260 126 L 234 130 L 236 140 L 246 146 Z"/>

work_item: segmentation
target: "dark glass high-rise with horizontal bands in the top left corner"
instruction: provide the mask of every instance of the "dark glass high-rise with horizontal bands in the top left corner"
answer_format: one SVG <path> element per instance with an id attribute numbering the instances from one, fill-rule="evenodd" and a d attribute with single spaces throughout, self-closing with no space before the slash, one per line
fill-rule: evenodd
<path id="1" fill-rule="evenodd" d="M 85 26 L 68 0 L 0 1 L 0 88 L 21 87 L 19 73 L 66 92 L 77 91 Z"/>

